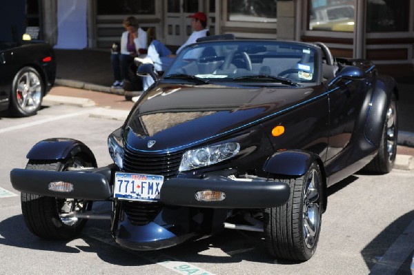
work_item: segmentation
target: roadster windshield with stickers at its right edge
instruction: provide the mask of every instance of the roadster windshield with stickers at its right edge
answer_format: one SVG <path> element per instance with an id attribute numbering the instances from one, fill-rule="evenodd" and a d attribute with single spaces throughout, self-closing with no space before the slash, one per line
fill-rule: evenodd
<path id="1" fill-rule="evenodd" d="M 182 50 L 163 79 L 306 85 L 318 81 L 317 48 L 286 41 L 208 41 Z"/>

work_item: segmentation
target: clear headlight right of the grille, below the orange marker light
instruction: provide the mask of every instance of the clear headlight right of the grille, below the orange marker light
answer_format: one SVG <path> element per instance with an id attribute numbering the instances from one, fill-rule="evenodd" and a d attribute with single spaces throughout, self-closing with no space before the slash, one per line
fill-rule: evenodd
<path id="1" fill-rule="evenodd" d="M 188 171 L 219 163 L 235 156 L 240 150 L 239 143 L 221 143 L 201 147 L 195 150 L 188 150 L 184 153 L 179 171 Z"/>

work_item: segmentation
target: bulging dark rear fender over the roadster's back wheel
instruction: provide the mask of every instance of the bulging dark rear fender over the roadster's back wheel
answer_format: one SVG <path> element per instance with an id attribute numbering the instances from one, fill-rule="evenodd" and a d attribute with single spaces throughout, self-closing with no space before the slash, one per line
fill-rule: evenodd
<path id="1" fill-rule="evenodd" d="M 395 80 L 392 77 L 384 75 L 378 77 L 364 130 L 365 139 L 373 145 L 380 146 L 386 112 L 394 91 L 398 98 Z"/>

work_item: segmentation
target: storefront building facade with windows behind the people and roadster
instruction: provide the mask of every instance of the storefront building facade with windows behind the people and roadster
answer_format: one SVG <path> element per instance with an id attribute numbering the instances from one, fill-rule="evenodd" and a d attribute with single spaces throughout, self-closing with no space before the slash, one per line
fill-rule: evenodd
<path id="1" fill-rule="evenodd" d="M 108 49 L 118 41 L 124 17 L 135 15 L 155 37 L 177 46 L 191 32 L 189 14 L 206 12 L 211 34 L 248 39 L 321 41 L 338 57 L 413 67 L 414 0 L 27 0 L 39 38 L 56 45 L 85 12 L 87 48 Z M 65 6 L 63 12 L 59 7 Z M 83 6 L 72 12 L 70 5 Z M 68 8 L 69 7 L 69 8 Z M 33 12 L 34 10 L 34 12 Z M 37 12 L 37 14 L 36 14 Z M 37 21 L 36 21 L 37 20 Z M 62 26 L 66 24 L 66 29 Z M 36 26 L 31 26 L 36 27 Z M 34 28 L 34 30 L 37 30 Z M 64 45 L 63 45 L 64 48 Z"/>

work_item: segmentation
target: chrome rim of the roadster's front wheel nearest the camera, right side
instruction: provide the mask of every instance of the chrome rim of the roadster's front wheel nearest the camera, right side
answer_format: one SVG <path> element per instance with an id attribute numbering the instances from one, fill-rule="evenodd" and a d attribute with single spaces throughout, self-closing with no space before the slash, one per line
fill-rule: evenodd
<path id="1" fill-rule="evenodd" d="M 321 198 L 318 191 L 321 185 L 317 170 L 312 169 L 309 171 L 308 176 L 306 176 L 302 208 L 304 242 L 308 248 L 312 248 L 315 245 L 317 232 L 319 232 L 321 224 Z"/>

